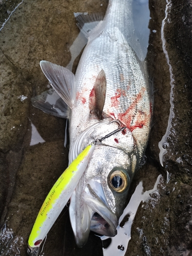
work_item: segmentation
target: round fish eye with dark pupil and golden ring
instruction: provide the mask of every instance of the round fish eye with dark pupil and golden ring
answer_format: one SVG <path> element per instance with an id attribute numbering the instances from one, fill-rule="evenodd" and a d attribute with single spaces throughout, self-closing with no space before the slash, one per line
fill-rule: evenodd
<path id="1" fill-rule="evenodd" d="M 108 177 L 108 184 L 116 192 L 123 192 L 127 187 L 127 175 L 122 170 L 114 170 Z"/>

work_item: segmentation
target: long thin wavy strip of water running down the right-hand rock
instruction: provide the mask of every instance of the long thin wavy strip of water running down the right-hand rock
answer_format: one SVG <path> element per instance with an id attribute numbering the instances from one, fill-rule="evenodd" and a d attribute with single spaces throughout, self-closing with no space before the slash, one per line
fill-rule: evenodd
<path id="1" fill-rule="evenodd" d="M 168 14 L 170 13 L 170 8 L 172 7 L 172 2 L 166 0 L 166 9 L 165 9 L 165 18 L 162 20 L 162 27 L 161 27 L 161 40 L 162 40 L 162 48 L 163 48 L 163 52 L 165 54 L 166 57 L 166 61 L 167 61 L 167 65 L 169 67 L 169 74 L 170 74 L 170 111 L 169 111 L 169 118 L 168 118 L 168 124 L 167 124 L 167 129 L 165 134 L 163 135 L 161 141 L 159 142 L 159 149 L 160 149 L 160 153 L 159 153 L 159 160 L 161 165 L 163 166 L 163 159 L 164 159 L 164 155 L 167 153 L 167 148 L 169 146 L 169 144 L 167 143 L 167 138 L 169 137 L 169 135 L 173 132 L 173 127 L 172 127 L 172 120 L 175 117 L 174 114 L 174 94 L 173 94 L 173 89 L 174 89 L 174 76 L 172 73 L 172 66 L 170 65 L 170 61 L 169 61 L 169 56 L 166 50 L 166 40 L 164 37 L 164 26 L 166 23 L 170 23 L 170 19 L 168 18 Z"/>

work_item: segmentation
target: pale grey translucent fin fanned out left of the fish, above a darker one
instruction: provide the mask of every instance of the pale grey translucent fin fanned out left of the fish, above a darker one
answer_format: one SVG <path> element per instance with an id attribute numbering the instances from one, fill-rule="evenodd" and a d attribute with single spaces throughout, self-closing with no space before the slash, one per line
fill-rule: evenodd
<path id="1" fill-rule="evenodd" d="M 46 60 L 40 61 L 40 67 L 53 89 L 72 109 L 74 104 L 75 75 L 70 70 Z"/>

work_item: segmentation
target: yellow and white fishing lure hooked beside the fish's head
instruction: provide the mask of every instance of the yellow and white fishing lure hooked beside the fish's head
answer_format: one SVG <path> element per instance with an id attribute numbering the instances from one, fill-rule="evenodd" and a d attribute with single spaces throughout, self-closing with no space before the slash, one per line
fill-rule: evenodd
<path id="1" fill-rule="evenodd" d="M 42 204 L 29 237 L 29 247 L 39 247 L 47 236 L 62 209 L 67 204 L 80 178 L 82 177 L 95 145 L 87 146 L 68 166 L 50 190 Z"/>

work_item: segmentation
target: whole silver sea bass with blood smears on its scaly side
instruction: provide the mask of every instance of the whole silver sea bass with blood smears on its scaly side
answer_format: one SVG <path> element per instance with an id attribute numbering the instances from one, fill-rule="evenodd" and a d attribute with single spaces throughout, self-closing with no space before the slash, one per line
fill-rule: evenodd
<path id="1" fill-rule="evenodd" d="M 70 201 L 71 225 L 81 247 L 90 230 L 110 237 L 117 233 L 118 219 L 147 145 L 152 99 L 146 63 L 134 33 L 132 0 L 110 0 L 102 20 L 97 14 L 75 16 L 88 38 L 76 74 L 41 61 L 57 101 L 53 103 L 48 99 L 51 95 L 44 94 L 33 99 L 33 105 L 69 118 L 69 164 L 89 144 L 96 144 Z M 61 108 L 60 98 L 67 108 Z M 124 129 L 113 133 L 120 127 Z"/>

